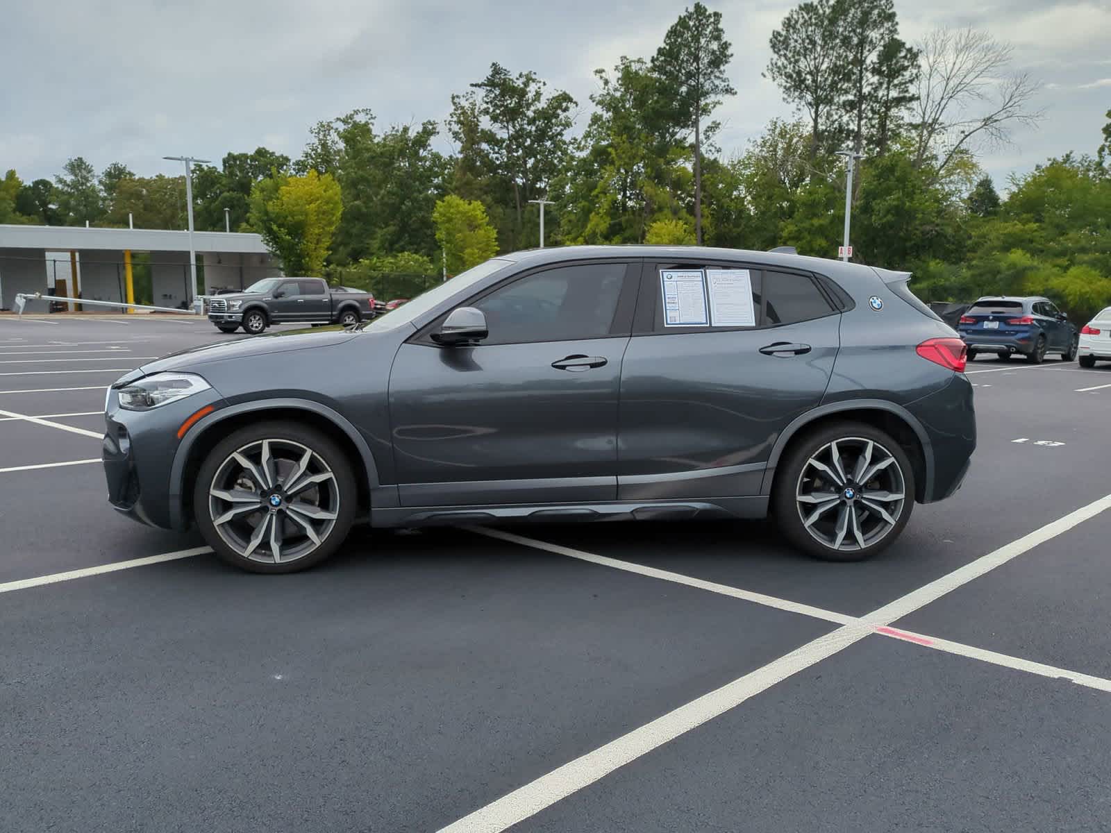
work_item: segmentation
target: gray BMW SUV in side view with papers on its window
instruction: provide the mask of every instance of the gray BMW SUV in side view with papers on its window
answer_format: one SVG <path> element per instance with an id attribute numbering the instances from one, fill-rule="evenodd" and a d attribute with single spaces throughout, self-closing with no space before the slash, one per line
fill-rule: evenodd
<path id="1" fill-rule="evenodd" d="M 964 344 L 910 275 L 779 252 L 541 249 L 346 330 L 187 350 L 113 384 L 109 500 L 257 572 L 372 526 L 763 518 L 890 544 L 975 446 Z"/>

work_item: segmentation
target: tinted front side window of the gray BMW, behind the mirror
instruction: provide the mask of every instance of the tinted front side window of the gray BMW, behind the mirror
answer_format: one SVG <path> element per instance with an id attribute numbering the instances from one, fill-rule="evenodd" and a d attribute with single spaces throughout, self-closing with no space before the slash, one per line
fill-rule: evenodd
<path id="1" fill-rule="evenodd" d="M 610 334 L 624 263 L 583 263 L 530 274 L 473 303 L 487 318 L 483 344 L 599 339 Z"/>

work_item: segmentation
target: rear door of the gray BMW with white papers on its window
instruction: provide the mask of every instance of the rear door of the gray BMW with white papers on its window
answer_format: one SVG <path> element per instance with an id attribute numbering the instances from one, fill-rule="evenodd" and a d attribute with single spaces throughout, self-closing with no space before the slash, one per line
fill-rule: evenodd
<path id="1" fill-rule="evenodd" d="M 618 498 L 758 494 L 780 432 L 825 393 L 840 318 L 805 272 L 645 264 L 621 371 Z"/>

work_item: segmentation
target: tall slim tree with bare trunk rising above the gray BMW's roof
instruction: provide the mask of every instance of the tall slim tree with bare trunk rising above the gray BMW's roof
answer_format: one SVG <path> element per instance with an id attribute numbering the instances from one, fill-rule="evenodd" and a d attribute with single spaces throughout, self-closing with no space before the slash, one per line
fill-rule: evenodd
<path id="1" fill-rule="evenodd" d="M 652 72 L 673 103 L 675 121 L 694 132 L 694 238 L 702 244 L 702 120 L 737 90 L 725 76 L 733 52 L 721 12 L 702 3 L 684 9 L 652 57 Z"/>

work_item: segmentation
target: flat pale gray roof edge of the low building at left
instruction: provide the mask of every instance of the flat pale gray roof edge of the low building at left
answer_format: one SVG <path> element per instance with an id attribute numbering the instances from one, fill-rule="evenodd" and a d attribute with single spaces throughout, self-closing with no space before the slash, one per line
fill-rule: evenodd
<path id="1" fill-rule="evenodd" d="M 266 254 L 259 234 L 224 231 L 193 232 L 198 252 Z M 0 249 L 107 250 L 136 252 L 188 252 L 189 232 L 156 229 L 82 229 L 74 225 L 0 224 Z"/>

